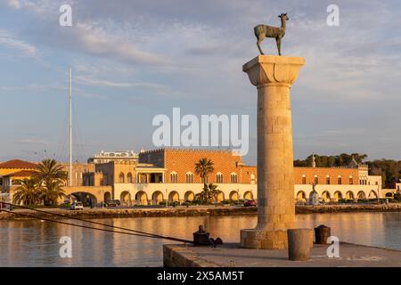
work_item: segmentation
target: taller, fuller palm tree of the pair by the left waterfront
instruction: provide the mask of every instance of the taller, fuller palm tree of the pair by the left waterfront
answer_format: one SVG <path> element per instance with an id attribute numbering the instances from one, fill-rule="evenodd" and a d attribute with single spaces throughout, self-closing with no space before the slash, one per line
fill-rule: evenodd
<path id="1" fill-rule="evenodd" d="M 40 185 L 41 198 L 45 206 L 54 205 L 64 196 L 62 185 L 67 181 L 67 171 L 55 159 L 45 159 L 37 166 L 32 175 Z"/>

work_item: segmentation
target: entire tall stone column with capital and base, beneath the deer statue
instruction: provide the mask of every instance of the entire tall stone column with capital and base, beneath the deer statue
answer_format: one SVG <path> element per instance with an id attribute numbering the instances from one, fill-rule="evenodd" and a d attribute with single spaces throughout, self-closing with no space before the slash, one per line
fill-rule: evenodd
<path id="1" fill-rule="evenodd" d="M 244 248 L 288 247 L 295 221 L 290 87 L 304 64 L 301 57 L 259 55 L 242 67 L 258 87 L 258 225 L 241 230 Z"/>

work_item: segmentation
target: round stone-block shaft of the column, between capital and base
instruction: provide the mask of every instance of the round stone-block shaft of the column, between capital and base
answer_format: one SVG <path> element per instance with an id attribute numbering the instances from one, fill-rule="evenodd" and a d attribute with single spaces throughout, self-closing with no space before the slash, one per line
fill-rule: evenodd
<path id="1" fill-rule="evenodd" d="M 258 230 L 295 220 L 291 98 L 288 84 L 258 87 Z"/>

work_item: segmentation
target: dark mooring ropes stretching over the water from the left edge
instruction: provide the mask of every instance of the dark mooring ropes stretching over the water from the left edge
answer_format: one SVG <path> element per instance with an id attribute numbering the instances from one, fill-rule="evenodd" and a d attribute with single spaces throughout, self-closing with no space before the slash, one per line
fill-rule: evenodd
<path id="1" fill-rule="evenodd" d="M 84 223 L 98 224 L 98 225 L 102 225 L 102 226 L 105 226 L 105 227 L 110 227 L 110 228 L 123 230 L 123 231 L 127 231 L 127 232 L 119 232 L 119 231 L 113 231 L 113 230 L 107 230 L 107 229 L 100 229 L 100 228 L 95 228 L 95 227 L 82 225 L 82 224 L 71 224 L 71 223 L 62 222 L 62 221 L 58 221 L 58 220 L 53 220 L 53 219 L 49 219 L 49 218 L 45 218 L 45 217 L 31 216 L 31 215 L 27 215 L 27 214 L 13 212 L 13 211 L 10 211 L 10 210 L 0 209 L 0 211 L 6 212 L 6 213 L 10 213 L 10 214 L 13 214 L 13 215 L 16 215 L 16 216 L 26 216 L 26 217 L 30 217 L 30 218 L 35 218 L 37 220 L 44 220 L 44 221 L 58 223 L 58 224 L 67 224 L 67 225 L 71 225 L 71 226 L 78 226 L 78 227 L 81 227 L 81 228 L 93 229 L 93 230 L 98 230 L 98 231 L 103 231 L 103 232 L 116 232 L 116 233 L 123 233 L 123 234 L 135 235 L 135 236 L 140 236 L 140 237 L 147 237 L 147 238 L 152 238 L 152 239 L 174 240 L 174 241 L 178 241 L 178 242 L 192 243 L 192 244 L 194 243 L 192 240 L 184 240 L 184 239 L 178 239 L 178 238 L 174 238 L 174 237 L 163 236 L 163 235 L 160 235 L 160 234 L 155 234 L 155 233 L 150 233 L 150 232 L 136 231 L 136 230 L 133 230 L 133 229 L 123 228 L 123 227 L 119 227 L 119 226 L 116 226 L 116 225 L 102 224 L 102 223 L 99 223 L 99 222 L 94 222 L 94 221 L 78 218 L 78 217 L 75 217 L 75 216 L 52 213 L 52 212 L 39 210 L 39 209 L 36 209 L 36 208 L 24 207 L 24 206 L 20 206 L 20 205 L 13 205 L 12 203 L 6 203 L 6 202 L 2 202 L 2 203 L 4 205 L 9 205 L 9 206 L 11 206 L 13 208 L 25 208 L 25 209 L 37 211 L 39 213 L 47 214 L 47 215 L 61 216 L 62 218 L 73 219 L 73 220 L 77 220 L 77 221 L 84 222 Z M 131 232 L 135 232 L 135 233 L 131 233 Z"/>

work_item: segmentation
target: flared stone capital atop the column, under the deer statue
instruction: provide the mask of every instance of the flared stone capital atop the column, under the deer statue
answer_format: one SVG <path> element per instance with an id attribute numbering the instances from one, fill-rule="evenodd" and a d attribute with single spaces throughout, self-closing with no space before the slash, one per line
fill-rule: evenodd
<path id="1" fill-rule="evenodd" d="M 296 56 L 258 55 L 242 66 L 250 77 L 250 83 L 257 87 L 283 85 L 290 87 L 298 77 L 305 59 Z"/>

